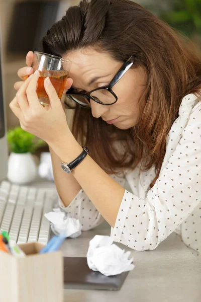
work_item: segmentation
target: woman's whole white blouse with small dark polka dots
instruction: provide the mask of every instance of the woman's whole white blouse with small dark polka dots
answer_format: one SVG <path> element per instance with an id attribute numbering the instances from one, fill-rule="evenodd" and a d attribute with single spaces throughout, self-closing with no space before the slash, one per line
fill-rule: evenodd
<path id="1" fill-rule="evenodd" d="M 166 154 L 154 186 L 154 167 L 140 172 L 139 166 L 111 177 L 125 189 L 111 236 L 114 241 L 137 250 L 153 250 L 172 232 L 201 255 L 201 102 L 194 94 L 182 99 L 179 117 L 166 139 Z M 83 190 L 68 207 L 82 230 L 90 230 L 104 219 Z M 200 254 L 199 254 L 200 253 Z"/>

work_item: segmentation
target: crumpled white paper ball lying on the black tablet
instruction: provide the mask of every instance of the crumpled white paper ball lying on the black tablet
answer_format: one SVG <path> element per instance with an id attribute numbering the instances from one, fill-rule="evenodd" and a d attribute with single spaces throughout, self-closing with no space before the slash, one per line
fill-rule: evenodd
<path id="1" fill-rule="evenodd" d="M 133 258 L 128 259 L 131 252 L 126 252 L 113 244 L 110 236 L 95 235 L 89 242 L 86 255 L 88 267 L 105 276 L 114 276 L 133 270 Z"/>

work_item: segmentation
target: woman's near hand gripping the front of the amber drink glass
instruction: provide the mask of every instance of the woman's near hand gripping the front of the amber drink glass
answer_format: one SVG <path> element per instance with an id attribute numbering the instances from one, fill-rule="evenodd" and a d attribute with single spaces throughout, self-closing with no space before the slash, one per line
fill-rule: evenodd
<path id="1" fill-rule="evenodd" d="M 61 142 L 64 137 L 66 139 L 66 135 L 71 132 L 62 104 L 49 78 L 45 79 L 44 87 L 50 104 L 43 107 L 39 103 L 36 93 L 38 79 L 39 71 L 36 70 L 21 85 L 16 97 L 10 103 L 10 108 L 19 118 L 22 129 L 42 138 L 49 145 L 55 146 L 57 141 Z"/>

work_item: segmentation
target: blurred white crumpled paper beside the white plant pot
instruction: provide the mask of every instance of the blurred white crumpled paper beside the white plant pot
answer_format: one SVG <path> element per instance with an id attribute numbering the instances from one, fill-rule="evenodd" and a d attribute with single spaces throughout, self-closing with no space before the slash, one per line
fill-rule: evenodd
<path id="1" fill-rule="evenodd" d="M 48 180 L 54 180 L 52 160 L 49 152 L 41 153 L 38 173 L 42 178 L 47 178 Z"/>

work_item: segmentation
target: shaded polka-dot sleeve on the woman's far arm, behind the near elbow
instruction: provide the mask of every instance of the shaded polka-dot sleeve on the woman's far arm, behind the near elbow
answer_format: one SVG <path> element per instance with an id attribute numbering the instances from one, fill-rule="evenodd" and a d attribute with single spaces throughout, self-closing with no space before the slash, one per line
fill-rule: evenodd
<path id="1" fill-rule="evenodd" d="M 123 175 L 120 177 L 111 175 L 111 177 L 122 186 L 125 185 L 125 178 Z M 65 212 L 70 213 L 72 217 L 79 219 L 82 225 L 82 231 L 93 229 L 104 221 L 104 218 L 97 211 L 84 190 L 80 190 L 67 207 L 64 206 L 62 200 L 59 198 L 59 206 Z"/>

